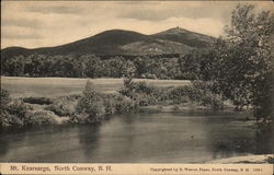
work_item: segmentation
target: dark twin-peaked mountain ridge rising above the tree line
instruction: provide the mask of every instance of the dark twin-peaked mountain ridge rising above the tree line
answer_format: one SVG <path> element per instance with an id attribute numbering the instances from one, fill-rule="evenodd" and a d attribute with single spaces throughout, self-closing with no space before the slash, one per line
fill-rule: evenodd
<path id="1" fill-rule="evenodd" d="M 1 50 L 1 56 L 9 58 L 34 52 L 47 55 L 94 54 L 98 56 L 186 54 L 193 48 L 207 47 L 214 40 L 214 37 L 180 27 L 152 35 L 144 35 L 133 31 L 111 30 L 56 47 L 34 49 L 8 47 Z"/>

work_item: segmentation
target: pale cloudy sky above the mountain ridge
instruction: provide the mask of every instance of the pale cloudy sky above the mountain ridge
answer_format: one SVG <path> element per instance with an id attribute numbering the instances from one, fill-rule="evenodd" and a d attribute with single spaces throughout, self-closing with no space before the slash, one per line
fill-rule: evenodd
<path id="1" fill-rule="evenodd" d="M 2 1 L 1 48 L 57 46 L 113 28 L 155 34 L 172 27 L 218 37 L 237 1 Z M 248 2 L 244 2 L 248 3 Z M 273 2 L 255 2 L 273 10 Z"/>

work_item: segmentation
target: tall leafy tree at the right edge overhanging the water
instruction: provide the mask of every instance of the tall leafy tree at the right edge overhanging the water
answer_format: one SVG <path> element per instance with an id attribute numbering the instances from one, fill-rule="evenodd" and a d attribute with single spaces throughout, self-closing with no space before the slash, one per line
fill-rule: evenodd
<path id="1" fill-rule="evenodd" d="M 254 12 L 254 5 L 238 5 L 226 26 L 225 44 L 215 45 L 205 56 L 203 79 L 214 81 L 218 93 L 240 109 L 251 107 L 258 120 L 273 121 L 273 33 L 274 14 Z M 213 63 L 214 62 L 214 63 Z M 213 73 L 214 72 L 214 73 Z"/>

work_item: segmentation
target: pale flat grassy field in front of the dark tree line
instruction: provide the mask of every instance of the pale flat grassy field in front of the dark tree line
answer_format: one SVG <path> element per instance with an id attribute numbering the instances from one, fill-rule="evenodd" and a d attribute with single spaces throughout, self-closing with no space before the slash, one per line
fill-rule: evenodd
<path id="1" fill-rule="evenodd" d="M 1 77 L 1 88 L 8 90 L 14 97 L 56 97 L 80 94 L 88 80 L 93 82 L 95 89 L 102 93 L 114 93 L 123 86 L 123 79 Z M 136 81 L 146 81 L 156 86 L 178 86 L 190 84 L 190 81 L 187 80 L 136 79 Z"/>

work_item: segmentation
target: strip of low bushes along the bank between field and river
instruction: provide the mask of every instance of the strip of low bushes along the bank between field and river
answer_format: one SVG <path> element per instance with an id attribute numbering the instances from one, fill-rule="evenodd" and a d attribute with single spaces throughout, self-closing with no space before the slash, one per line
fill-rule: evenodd
<path id="1" fill-rule="evenodd" d="M 149 105 L 195 104 L 221 108 L 222 101 L 201 84 L 163 88 L 126 78 L 117 93 L 104 94 L 88 81 L 81 95 L 56 98 L 11 98 L 1 89 L 1 126 L 100 122 L 109 115 L 136 112 Z"/>

